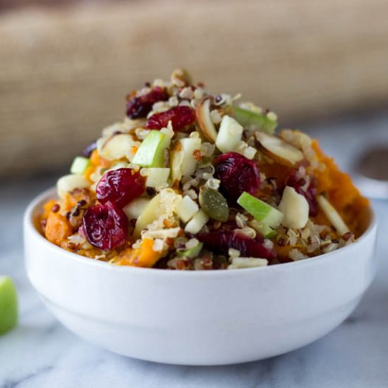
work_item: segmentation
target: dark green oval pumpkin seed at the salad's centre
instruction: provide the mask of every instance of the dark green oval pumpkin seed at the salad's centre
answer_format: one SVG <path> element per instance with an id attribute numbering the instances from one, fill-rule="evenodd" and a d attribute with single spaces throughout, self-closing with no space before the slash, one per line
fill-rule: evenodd
<path id="1" fill-rule="evenodd" d="M 207 186 L 200 188 L 200 206 L 202 210 L 216 221 L 226 222 L 229 217 L 228 202 L 219 191 Z"/>

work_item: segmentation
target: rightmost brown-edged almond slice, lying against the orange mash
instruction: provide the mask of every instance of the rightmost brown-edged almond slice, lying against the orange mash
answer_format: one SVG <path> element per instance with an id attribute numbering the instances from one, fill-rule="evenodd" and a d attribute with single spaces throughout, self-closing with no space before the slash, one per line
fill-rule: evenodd
<path id="1" fill-rule="evenodd" d="M 284 166 L 293 166 L 305 159 L 303 152 L 281 138 L 264 132 L 256 132 L 259 149 L 267 157 Z"/>

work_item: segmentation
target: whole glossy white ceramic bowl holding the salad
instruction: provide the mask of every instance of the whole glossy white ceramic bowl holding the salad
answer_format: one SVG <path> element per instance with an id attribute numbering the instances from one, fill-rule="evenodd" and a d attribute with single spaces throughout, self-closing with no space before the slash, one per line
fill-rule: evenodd
<path id="1" fill-rule="evenodd" d="M 43 193 L 25 212 L 25 265 L 71 331 L 126 356 L 221 365 L 292 351 L 324 336 L 372 281 L 376 224 L 358 242 L 313 259 L 226 271 L 118 267 L 68 253 L 35 229 Z"/>

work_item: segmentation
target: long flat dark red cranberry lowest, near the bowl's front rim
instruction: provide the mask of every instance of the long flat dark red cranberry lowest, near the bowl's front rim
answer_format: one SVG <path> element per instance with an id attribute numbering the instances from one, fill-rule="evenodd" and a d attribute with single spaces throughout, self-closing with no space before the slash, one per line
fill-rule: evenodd
<path id="1" fill-rule="evenodd" d="M 204 243 L 206 248 L 222 255 L 227 255 L 229 248 L 234 248 L 239 250 L 243 257 L 262 257 L 265 259 L 276 257 L 274 249 L 265 247 L 261 238 L 253 239 L 236 231 L 216 230 L 198 234 L 195 237 Z"/>

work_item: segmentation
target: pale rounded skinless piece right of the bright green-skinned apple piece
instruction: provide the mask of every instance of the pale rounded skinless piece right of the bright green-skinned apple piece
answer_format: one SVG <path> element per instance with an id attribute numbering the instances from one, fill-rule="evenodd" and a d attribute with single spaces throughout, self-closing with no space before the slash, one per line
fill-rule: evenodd
<path id="1" fill-rule="evenodd" d="M 301 194 L 296 193 L 296 190 L 291 186 L 286 186 L 281 196 L 279 210 L 284 217 L 281 221 L 286 228 L 301 229 L 308 222 L 309 212 L 308 202 Z"/>

